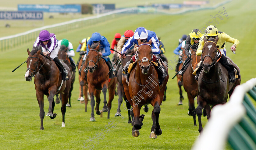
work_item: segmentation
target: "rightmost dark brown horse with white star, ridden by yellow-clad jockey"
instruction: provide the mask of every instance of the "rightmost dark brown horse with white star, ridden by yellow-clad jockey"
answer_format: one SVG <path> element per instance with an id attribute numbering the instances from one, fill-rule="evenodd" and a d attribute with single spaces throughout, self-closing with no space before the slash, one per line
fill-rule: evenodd
<path id="1" fill-rule="evenodd" d="M 229 83 L 228 71 L 218 62 L 218 54 L 221 53 L 216 46 L 218 40 L 218 36 L 215 39 L 209 38 L 208 40 L 204 37 L 204 47 L 201 54 L 203 69 L 198 76 L 198 106 L 196 108 L 200 134 L 203 132 L 201 123 L 202 109 L 205 108 L 207 119 L 209 119 L 211 113 L 210 105 L 214 107 L 217 104 L 225 104 L 228 95 L 230 97 L 234 88 L 241 82 L 241 79 L 237 79 L 234 83 Z M 240 75 L 238 66 L 232 60 L 230 62 L 238 69 L 237 71 Z"/>

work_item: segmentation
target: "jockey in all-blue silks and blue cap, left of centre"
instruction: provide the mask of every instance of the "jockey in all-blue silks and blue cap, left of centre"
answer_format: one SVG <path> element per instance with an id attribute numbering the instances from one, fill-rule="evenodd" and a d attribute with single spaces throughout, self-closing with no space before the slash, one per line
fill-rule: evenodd
<path id="1" fill-rule="evenodd" d="M 99 54 L 101 55 L 101 57 L 103 57 L 105 59 L 106 64 L 108 65 L 109 69 L 112 68 L 112 70 L 110 70 L 110 73 L 109 73 L 109 78 L 115 77 L 114 72 L 116 71 L 116 69 L 114 67 L 112 67 L 111 60 L 108 57 L 110 55 L 110 44 L 108 43 L 108 40 L 104 36 L 101 36 L 100 33 L 98 33 L 98 32 L 93 33 L 91 35 L 91 38 L 87 42 L 86 55 L 88 55 L 88 52 L 89 52 L 88 45 L 91 46 L 93 43 L 100 44 L 99 50 L 101 50 L 101 51 L 99 52 Z M 81 50 L 80 55 L 82 53 L 85 54 L 85 51 L 82 52 L 82 50 Z M 87 62 L 85 65 L 87 66 Z M 87 69 L 85 70 L 85 72 L 87 73 Z"/>

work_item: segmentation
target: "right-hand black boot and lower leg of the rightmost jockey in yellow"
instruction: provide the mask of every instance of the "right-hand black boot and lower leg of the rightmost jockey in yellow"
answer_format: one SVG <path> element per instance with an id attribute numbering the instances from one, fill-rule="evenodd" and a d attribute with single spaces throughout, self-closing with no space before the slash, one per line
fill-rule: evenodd
<path id="1" fill-rule="evenodd" d="M 235 82 L 236 80 L 235 69 L 234 69 L 234 66 L 228 62 L 227 57 L 222 55 L 219 62 L 227 69 L 229 73 L 229 82 Z"/>

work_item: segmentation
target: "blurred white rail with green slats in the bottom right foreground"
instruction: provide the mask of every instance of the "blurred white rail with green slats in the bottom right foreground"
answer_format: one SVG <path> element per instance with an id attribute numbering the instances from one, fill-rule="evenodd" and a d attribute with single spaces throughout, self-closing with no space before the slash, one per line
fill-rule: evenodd
<path id="1" fill-rule="evenodd" d="M 228 103 L 212 109 L 203 135 L 192 150 L 222 150 L 226 141 L 235 150 L 256 149 L 256 78 L 235 88 Z M 211 145 L 211 146 L 209 146 Z"/>

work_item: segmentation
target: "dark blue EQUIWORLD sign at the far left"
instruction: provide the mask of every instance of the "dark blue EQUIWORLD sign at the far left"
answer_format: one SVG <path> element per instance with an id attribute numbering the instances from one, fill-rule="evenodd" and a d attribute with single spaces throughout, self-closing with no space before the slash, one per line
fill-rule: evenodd
<path id="1" fill-rule="evenodd" d="M 43 12 L 0 12 L 5 20 L 43 20 Z"/>

